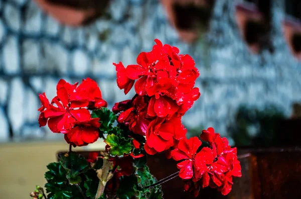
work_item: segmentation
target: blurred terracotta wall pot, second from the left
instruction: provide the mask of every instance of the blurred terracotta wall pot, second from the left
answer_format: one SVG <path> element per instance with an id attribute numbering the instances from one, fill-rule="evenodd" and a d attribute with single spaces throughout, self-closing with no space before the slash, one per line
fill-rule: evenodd
<path id="1" fill-rule="evenodd" d="M 170 23 L 176 28 L 180 38 L 188 43 L 196 41 L 201 29 L 208 28 L 214 7 L 213 0 L 161 0 Z"/>

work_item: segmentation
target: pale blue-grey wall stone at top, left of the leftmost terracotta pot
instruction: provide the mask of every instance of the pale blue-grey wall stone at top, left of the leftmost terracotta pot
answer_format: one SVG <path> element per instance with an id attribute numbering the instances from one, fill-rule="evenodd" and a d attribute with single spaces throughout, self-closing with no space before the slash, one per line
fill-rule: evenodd
<path id="1" fill-rule="evenodd" d="M 42 11 L 34 1 L 29 1 L 25 10 L 25 31 L 29 33 L 39 33 L 42 27 Z"/>

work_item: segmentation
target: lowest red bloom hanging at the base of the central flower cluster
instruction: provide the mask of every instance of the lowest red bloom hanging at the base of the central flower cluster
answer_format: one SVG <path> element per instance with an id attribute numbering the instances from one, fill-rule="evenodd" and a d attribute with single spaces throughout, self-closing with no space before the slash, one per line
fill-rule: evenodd
<path id="1" fill-rule="evenodd" d="M 157 118 L 149 123 L 146 132 L 144 149 L 148 154 L 165 151 L 174 146 L 174 139 L 185 137 L 187 129 L 181 123 L 181 118 L 174 117 L 170 120 Z"/>

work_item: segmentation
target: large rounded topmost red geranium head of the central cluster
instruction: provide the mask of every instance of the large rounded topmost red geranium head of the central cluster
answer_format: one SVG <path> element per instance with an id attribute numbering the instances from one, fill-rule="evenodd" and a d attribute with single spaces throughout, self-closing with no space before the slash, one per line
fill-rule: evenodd
<path id="1" fill-rule="evenodd" d="M 114 64 L 117 83 L 127 93 L 135 82 L 135 91 L 140 96 L 149 96 L 147 114 L 155 117 L 179 116 L 189 110 L 199 98 L 198 88 L 194 88 L 199 71 L 189 55 L 178 55 L 179 49 L 163 45 L 158 39 L 150 52 L 141 52 L 136 65 L 126 68 L 120 62 Z"/>

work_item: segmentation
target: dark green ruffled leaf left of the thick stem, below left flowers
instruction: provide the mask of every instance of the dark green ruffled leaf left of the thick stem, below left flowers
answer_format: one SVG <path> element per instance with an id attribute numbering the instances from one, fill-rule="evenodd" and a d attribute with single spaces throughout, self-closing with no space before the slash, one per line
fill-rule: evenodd
<path id="1" fill-rule="evenodd" d="M 69 182 L 72 184 L 78 184 L 81 181 L 81 177 L 78 175 L 89 169 L 87 160 L 74 151 L 69 153 L 60 153 L 58 154 L 58 157 L 60 163 L 67 171 L 66 177 Z"/>

